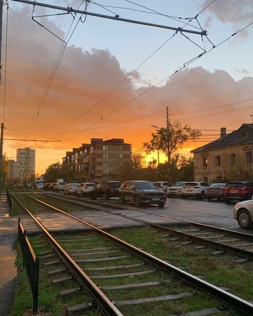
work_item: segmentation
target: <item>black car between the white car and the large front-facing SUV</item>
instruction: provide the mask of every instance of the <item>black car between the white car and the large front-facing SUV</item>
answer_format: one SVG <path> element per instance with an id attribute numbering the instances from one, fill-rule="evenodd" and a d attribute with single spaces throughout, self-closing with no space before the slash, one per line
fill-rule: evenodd
<path id="1" fill-rule="evenodd" d="M 121 181 L 103 181 L 90 190 L 91 199 L 102 197 L 107 200 L 110 197 L 119 196 Z"/>

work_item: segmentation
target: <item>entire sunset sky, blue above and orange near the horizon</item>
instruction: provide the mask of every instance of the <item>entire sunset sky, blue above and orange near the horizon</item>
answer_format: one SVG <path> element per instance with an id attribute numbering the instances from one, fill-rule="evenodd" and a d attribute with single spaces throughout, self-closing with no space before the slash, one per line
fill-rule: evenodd
<path id="1" fill-rule="evenodd" d="M 253 123 L 252 0 L 39 2 L 182 32 L 4 2 L 0 118 L 8 159 L 17 148 L 36 149 L 43 174 L 91 138 L 123 138 L 141 153 L 151 125 L 166 127 L 167 107 L 171 122 L 202 132 L 183 152 L 219 138 L 221 127 Z"/>

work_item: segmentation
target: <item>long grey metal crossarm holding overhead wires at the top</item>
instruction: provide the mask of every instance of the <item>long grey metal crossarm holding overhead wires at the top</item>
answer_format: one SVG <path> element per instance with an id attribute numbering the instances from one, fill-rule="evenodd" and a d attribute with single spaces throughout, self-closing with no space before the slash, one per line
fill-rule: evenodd
<path id="1" fill-rule="evenodd" d="M 167 25 L 124 19 L 124 18 L 121 18 L 119 15 L 110 16 L 110 15 L 98 14 L 98 13 L 87 12 L 87 11 L 82 11 L 82 10 L 76 10 L 76 9 L 73 9 L 72 7 L 63 7 L 63 6 L 57 6 L 57 5 L 41 3 L 41 2 L 36 2 L 36 1 L 29 1 L 29 0 L 12 0 L 12 1 L 22 2 L 22 3 L 32 4 L 32 5 L 39 5 L 39 6 L 52 8 L 52 9 L 58 9 L 58 10 L 62 10 L 62 11 L 67 11 L 67 13 L 70 13 L 70 12 L 80 13 L 80 14 L 86 14 L 86 15 L 91 15 L 91 16 L 103 17 L 105 19 L 111 19 L 111 20 L 117 20 L 117 21 L 122 21 L 122 22 L 128 22 L 128 23 L 147 25 L 147 26 L 158 27 L 158 28 L 163 28 L 163 29 L 168 29 L 168 30 L 174 30 L 174 31 L 178 31 L 178 32 L 186 32 L 186 33 L 198 34 L 198 35 L 203 35 L 203 36 L 207 35 L 207 32 L 205 30 L 203 30 L 201 32 L 192 31 L 192 30 L 184 29 L 182 27 L 171 27 L 171 26 L 167 26 Z"/>

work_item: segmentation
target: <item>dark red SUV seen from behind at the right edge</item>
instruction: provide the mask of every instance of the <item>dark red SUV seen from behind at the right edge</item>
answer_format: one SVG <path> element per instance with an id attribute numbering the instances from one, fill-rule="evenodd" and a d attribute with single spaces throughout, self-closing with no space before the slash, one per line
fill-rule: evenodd
<path id="1" fill-rule="evenodd" d="M 224 198 L 226 203 L 233 200 L 250 200 L 253 196 L 253 182 L 233 181 L 225 188 Z"/>

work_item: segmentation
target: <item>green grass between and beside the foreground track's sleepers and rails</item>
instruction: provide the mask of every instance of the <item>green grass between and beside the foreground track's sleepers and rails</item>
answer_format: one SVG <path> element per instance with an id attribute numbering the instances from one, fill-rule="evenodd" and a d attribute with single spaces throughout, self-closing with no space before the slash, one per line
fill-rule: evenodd
<path id="1" fill-rule="evenodd" d="M 247 263 L 238 264 L 234 262 L 236 257 L 231 255 L 220 255 L 215 256 L 211 253 L 214 251 L 211 248 L 205 248 L 204 250 L 194 249 L 194 244 L 192 245 L 181 245 L 180 242 L 170 241 L 170 237 L 164 237 L 164 232 L 157 232 L 150 227 L 142 228 L 123 228 L 117 229 L 110 232 L 111 234 L 117 236 L 120 239 L 125 240 L 126 242 L 143 249 L 147 253 L 152 253 L 153 255 L 167 260 L 171 264 L 184 269 L 186 272 L 189 272 L 196 276 L 202 276 L 205 281 L 210 282 L 218 287 L 227 287 L 230 292 L 234 295 L 241 297 L 244 300 L 252 300 L 253 297 L 253 262 L 249 261 Z M 89 239 L 92 238 L 89 245 Z M 105 241 L 102 237 L 95 235 L 93 232 L 85 232 L 85 234 L 64 234 L 56 236 L 56 239 L 61 241 L 61 244 L 64 245 L 64 249 L 67 251 L 70 250 L 80 250 L 80 249 L 92 249 L 100 247 L 113 247 L 118 249 L 117 246 L 112 244 L 110 241 Z M 63 239 L 65 241 L 63 241 Z M 80 244 L 80 240 L 83 239 L 83 242 Z M 84 240 L 85 239 L 85 240 Z M 44 252 L 49 249 L 48 245 L 44 245 L 42 236 L 36 236 L 29 238 L 34 252 L 36 254 Z M 76 240 L 77 242 L 73 242 Z M 100 244 L 102 242 L 102 244 Z M 85 246 L 84 246 L 85 245 Z M 95 246 L 94 246 L 95 245 Z M 197 245 L 196 245 L 197 246 Z M 81 247 L 81 248 L 80 248 Z M 111 250 L 113 250 L 113 248 Z M 22 255 L 19 249 L 18 244 L 16 245 L 17 249 L 17 258 L 16 265 L 18 267 L 18 284 L 15 294 L 15 302 L 12 308 L 11 316 L 23 316 L 23 315 L 32 315 L 32 295 L 30 292 L 30 286 L 27 280 L 27 273 L 25 268 L 22 267 Z M 80 252 L 82 253 L 82 252 Z M 125 251 L 120 251 L 119 253 L 112 253 L 110 256 L 119 256 L 127 254 Z M 102 255 L 104 257 L 109 256 L 108 254 Z M 92 258 L 96 256 L 92 256 Z M 101 255 L 98 255 L 101 257 Z M 78 255 L 75 259 L 85 258 L 85 255 Z M 48 259 L 49 261 L 52 258 Z M 65 315 L 65 309 L 67 306 L 73 306 L 79 303 L 91 302 L 90 298 L 87 295 L 83 296 L 83 293 L 70 298 L 66 301 L 63 301 L 59 298 L 58 293 L 63 289 L 70 288 L 70 284 L 53 286 L 52 282 L 48 276 L 49 270 L 58 269 L 59 265 L 54 267 L 50 266 L 46 268 L 43 265 L 43 260 L 40 264 L 40 284 L 39 284 L 39 313 L 38 315 L 46 316 L 62 316 Z M 101 262 L 100 266 L 109 266 L 109 265 L 124 265 L 129 263 L 140 262 L 138 258 L 127 257 L 118 259 L 117 261 Z M 94 267 L 98 263 L 87 262 L 85 267 Z M 134 268 L 134 272 L 152 269 L 150 266 L 141 266 Z M 118 269 L 117 273 L 127 273 L 132 272 L 133 269 Z M 89 272 L 89 275 L 100 275 L 110 273 L 115 274 L 115 271 L 107 270 L 105 271 L 92 271 Z M 66 273 L 63 273 L 61 276 L 54 278 L 59 278 L 67 276 Z M 108 279 L 95 279 L 95 284 L 99 286 L 108 285 L 120 285 L 120 284 L 129 284 L 129 283 L 138 283 L 138 282 L 150 282 L 156 280 L 168 280 L 172 276 L 167 275 L 163 271 L 157 273 L 134 276 L 134 277 L 122 277 L 122 278 L 113 278 L 108 281 Z M 71 280 L 72 287 L 78 287 L 78 284 Z M 191 288 L 187 287 L 181 280 L 174 280 L 173 282 L 166 283 L 162 282 L 158 286 L 138 288 L 138 289 L 127 289 L 127 290 L 110 290 L 105 291 L 105 294 L 110 297 L 113 301 L 123 301 L 123 300 L 132 300 L 136 298 L 148 298 L 155 296 L 164 296 L 172 295 L 181 292 L 192 291 Z M 180 303 L 179 303 L 180 302 Z M 173 301 L 163 301 L 155 303 L 145 303 L 134 306 L 121 306 L 118 307 L 123 315 L 127 316 L 168 316 L 172 314 L 183 315 L 185 312 L 192 312 L 196 310 L 201 310 L 210 307 L 218 307 L 221 303 L 217 300 L 210 298 L 209 295 L 205 293 L 197 293 L 194 296 L 186 297 L 183 299 L 173 300 Z M 162 312 L 161 312 L 162 311 Z M 162 313 L 162 314 L 161 314 Z M 86 316 L 100 315 L 99 311 L 90 311 Z M 239 313 L 231 310 L 221 311 L 218 315 L 222 316 L 238 316 Z"/>

